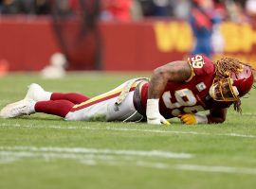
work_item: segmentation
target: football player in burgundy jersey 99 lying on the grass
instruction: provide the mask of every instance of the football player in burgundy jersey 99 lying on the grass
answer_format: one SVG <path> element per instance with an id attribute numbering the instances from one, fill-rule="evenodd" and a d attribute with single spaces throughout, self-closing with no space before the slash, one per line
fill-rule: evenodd
<path id="1" fill-rule="evenodd" d="M 227 109 L 241 111 L 240 98 L 253 84 L 252 69 L 235 59 L 212 62 L 196 55 L 155 69 L 152 77 L 135 78 L 118 88 L 89 98 L 82 94 L 46 92 L 31 84 L 26 97 L 9 104 L 3 118 L 45 112 L 65 120 L 143 121 L 169 124 L 179 117 L 185 124 L 222 123 Z M 210 110 L 209 114 L 198 113 Z"/>

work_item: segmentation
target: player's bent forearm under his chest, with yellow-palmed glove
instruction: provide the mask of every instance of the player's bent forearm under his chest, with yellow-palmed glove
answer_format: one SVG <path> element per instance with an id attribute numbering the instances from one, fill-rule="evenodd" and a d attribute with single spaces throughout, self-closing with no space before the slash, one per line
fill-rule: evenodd
<path id="1" fill-rule="evenodd" d="M 220 124 L 226 120 L 227 108 L 212 109 L 209 114 L 186 113 L 180 115 L 180 120 L 186 125 L 194 124 Z"/>

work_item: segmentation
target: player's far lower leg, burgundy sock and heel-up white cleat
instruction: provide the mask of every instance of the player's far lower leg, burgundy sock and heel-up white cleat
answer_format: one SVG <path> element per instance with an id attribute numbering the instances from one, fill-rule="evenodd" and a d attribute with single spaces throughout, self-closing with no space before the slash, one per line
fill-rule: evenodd
<path id="1" fill-rule="evenodd" d="M 74 104 L 80 104 L 89 99 L 89 97 L 78 93 L 51 93 L 46 92 L 40 85 L 32 83 L 27 91 L 27 99 L 33 99 L 36 102 L 47 100 L 68 100 Z"/>

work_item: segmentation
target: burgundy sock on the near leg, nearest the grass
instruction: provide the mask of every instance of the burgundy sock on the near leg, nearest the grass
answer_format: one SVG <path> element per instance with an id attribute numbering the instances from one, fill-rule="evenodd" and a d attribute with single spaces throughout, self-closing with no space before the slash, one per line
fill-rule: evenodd
<path id="1" fill-rule="evenodd" d="M 73 106 L 74 104 L 68 100 L 41 101 L 35 104 L 35 112 L 45 112 L 47 114 L 65 117 Z"/>

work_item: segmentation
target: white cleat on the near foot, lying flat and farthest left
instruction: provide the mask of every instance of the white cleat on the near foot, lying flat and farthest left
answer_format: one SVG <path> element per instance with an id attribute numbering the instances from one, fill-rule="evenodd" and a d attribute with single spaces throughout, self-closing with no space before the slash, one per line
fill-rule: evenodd
<path id="1" fill-rule="evenodd" d="M 23 99 L 18 102 L 11 103 L 3 108 L 0 112 L 1 118 L 18 117 L 35 113 L 35 101 Z"/>

